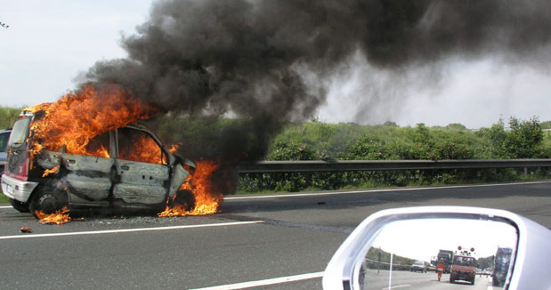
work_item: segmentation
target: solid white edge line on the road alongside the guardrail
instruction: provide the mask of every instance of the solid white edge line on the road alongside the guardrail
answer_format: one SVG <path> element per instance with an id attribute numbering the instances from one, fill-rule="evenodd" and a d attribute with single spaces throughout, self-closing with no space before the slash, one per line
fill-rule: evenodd
<path id="1" fill-rule="evenodd" d="M 333 196 L 339 194 L 352 194 L 352 193 L 368 193 L 368 192 L 391 192 L 391 191 L 415 191 L 415 190 L 427 190 L 427 189 L 462 189 L 462 188 L 482 188 L 482 187 L 494 187 L 494 186 L 507 186 L 507 185 L 523 185 L 523 184 L 539 184 L 549 183 L 551 181 L 529 181 L 529 182 L 512 182 L 512 183 L 494 183 L 494 184 L 477 184 L 477 185 L 450 185 L 439 187 L 423 187 L 423 188 L 395 188 L 395 189 L 369 189 L 369 190 L 347 190 L 347 191 L 331 191 L 331 192 L 313 192 L 313 193 L 294 193 L 294 194 L 280 194 L 280 195 L 267 195 L 256 197 L 224 197 L 224 200 L 232 199 L 259 199 L 259 198 L 273 198 L 273 197 L 318 197 L 318 196 Z"/>

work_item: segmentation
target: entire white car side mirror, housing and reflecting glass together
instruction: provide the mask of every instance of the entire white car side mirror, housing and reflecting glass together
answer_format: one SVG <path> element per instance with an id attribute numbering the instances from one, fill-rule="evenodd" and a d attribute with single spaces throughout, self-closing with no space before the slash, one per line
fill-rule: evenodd
<path id="1" fill-rule="evenodd" d="M 550 240 L 551 230 L 503 210 L 463 206 L 384 210 L 370 215 L 346 238 L 328 263 L 323 288 L 382 289 L 411 285 L 412 280 L 419 289 L 434 283 L 474 284 L 480 266 L 493 270 L 493 277 L 479 276 L 478 283 L 551 289 Z M 458 246 L 475 251 L 456 251 Z M 431 262 L 431 257 L 450 250 L 453 254 L 442 281 L 434 271 L 417 273 L 409 266 Z"/>

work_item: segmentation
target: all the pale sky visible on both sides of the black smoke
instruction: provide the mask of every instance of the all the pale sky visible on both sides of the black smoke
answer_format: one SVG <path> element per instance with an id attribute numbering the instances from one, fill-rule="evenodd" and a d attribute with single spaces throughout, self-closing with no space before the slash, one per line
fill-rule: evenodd
<path id="1" fill-rule="evenodd" d="M 0 0 L 0 22 L 10 26 L 0 27 L 0 106 L 56 101 L 96 61 L 124 58 L 121 35 L 134 34 L 148 20 L 152 2 Z M 502 63 L 486 56 L 448 60 L 441 68 L 436 74 L 424 67 L 390 72 L 352 55 L 325 79 L 327 101 L 317 117 L 329 123 L 461 123 L 473 129 L 499 118 L 551 120 L 546 63 Z"/>

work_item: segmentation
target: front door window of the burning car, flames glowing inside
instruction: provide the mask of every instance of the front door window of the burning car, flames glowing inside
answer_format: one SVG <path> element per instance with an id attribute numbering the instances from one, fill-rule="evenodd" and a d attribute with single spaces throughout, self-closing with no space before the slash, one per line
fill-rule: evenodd
<path id="1" fill-rule="evenodd" d="M 148 133 L 131 128 L 118 129 L 118 158 L 153 164 L 166 163 L 163 150 L 157 142 Z"/>

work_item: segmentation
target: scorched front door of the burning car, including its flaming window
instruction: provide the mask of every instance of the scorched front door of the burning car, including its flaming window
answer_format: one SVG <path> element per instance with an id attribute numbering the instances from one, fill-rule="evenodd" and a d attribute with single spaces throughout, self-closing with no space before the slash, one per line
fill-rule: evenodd
<path id="1" fill-rule="evenodd" d="M 118 180 L 113 186 L 113 197 L 126 204 L 165 202 L 170 188 L 165 149 L 151 133 L 139 128 L 119 128 L 116 136 Z"/>

